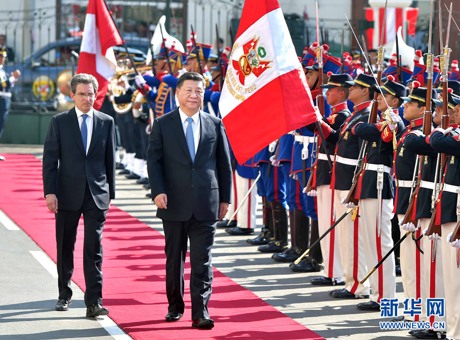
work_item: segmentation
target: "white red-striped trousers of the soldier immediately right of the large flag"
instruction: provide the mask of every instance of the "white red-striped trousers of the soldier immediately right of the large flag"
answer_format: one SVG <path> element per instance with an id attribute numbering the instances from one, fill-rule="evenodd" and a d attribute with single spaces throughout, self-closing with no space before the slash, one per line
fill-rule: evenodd
<path id="1" fill-rule="evenodd" d="M 329 185 L 323 185 L 316 188 L 317 198 L 317 215 L 319 235 L 323 235 L 334 224 L 334 190 Z M 336 216 L 338 218 L 340 216 Z M 324 276 L 331 279 L 341 279 L 343 276 L 342 258 L 340 256 L 340 241 L 338 237 L 338 228 L 336 226 L 325 238 L 319 243 L 324 260 Z"/>

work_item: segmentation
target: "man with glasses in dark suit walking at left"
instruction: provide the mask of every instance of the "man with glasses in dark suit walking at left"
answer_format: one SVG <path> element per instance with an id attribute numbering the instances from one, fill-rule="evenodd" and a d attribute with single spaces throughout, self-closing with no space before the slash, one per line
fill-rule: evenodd
<path id="1" fill-rule="evenodd" d="M 71 279 L 77 226 L 83 214 L 83 270 L 86 316 L 107 315 L 102 307 L 102 229 L 115 198 L 115 127 L 113 118 L 93 108 L 98 82 L 88 74 L 71 80 L 75 107 L 53 116 L 43 146 L 43 189 L 56 213 L 59 300 L 72 303 Z M 59 202 L 59 208 L 58 208 Z"/>

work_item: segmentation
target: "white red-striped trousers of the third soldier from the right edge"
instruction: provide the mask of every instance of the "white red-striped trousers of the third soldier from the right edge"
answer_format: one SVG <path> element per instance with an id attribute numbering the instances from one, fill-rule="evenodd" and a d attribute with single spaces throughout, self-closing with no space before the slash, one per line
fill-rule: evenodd
<path id="1" fill-rule="evenodd" d="M 404 218 L 404 215 L 398 214 L 398 220 Z M 400 229 L 401 237 L 407 232 Z M 419 238 L 422 235 L 422 229 L 419 228 L 415 233 L 415 237 Z M 419 241 L 420 248 L 423 250 L 423 242 L 427 241 L 425 237 Z M 423 254 L 417 249 L 417 245 L 412 240 L 412 235 L 406 237 L 401 242 L 400 246 L 400 262 L 401 262 L 401 277 L 404 289 L 405 299 L 422 299 L 422 314 L 410 316 L 409 314 L 403 314 L 402 311 L 398 315 L 404 315 L 405 320 L 410 321 L 426 321 L 426 288 L 425 288 L 425 275 L 423 270 Z M 409 306 L 410 307 L 410 303 Z M 409 308 L 410 309 L 410 308 Z"/>

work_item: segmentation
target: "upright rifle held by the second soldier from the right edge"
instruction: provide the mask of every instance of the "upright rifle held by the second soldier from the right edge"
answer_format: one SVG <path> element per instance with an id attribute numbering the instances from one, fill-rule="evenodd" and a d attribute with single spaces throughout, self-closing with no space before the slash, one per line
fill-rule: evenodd
<path id="1" fill-rule="evenodd" d="M 440 4 L 441 5 L 441 4 Z M 441 6 L 440 6 L 440 10 L 439 10 L 439 15 L 440 15 L 440 19 L 441 19 Z M 450 18 L 450 17 L 449 17 Z M 449 20 L 450 21 L 450 20 Z M 442 21 L 440 21 L 442 22 Z M 443 55 L 440 55 L 439 56 L 439 65 L 440 65 L 440 69 L 441 69 L 441 74 L 442 74 L 442 77 L 443 77 L 443 114 L 441 116 L 441 125 L 443 127 L 443 129 L 447 129 L 449 127 L 449 114 L 447 112 L 447 109 L 448 109 L 448 92 L 447 92 L 447 88 L 448 88 L 448 67 L 449 67 L 449 56 L 450 56 L 450 49 L 445 46 L 443 48 L 443 32 L 442 32 L 442 27 L 440 27 L 440 43 L 441 43 L 441 51 L 443 51 Z M 438 198 L 437 196 L 439 195 L 439 192 L 440 192 L 440 187 L 441 187 L 441 183 L 438 183 L 438 172 L 440 172 L 440 158 L 441 158 L 441 169 L 444 169 L 444 166 L 446 164 L 446 161 L 447 161 L 447 154 L 443 153 L 442 155 L 439 153 L 438 154 L 438 160 L 436 161 L 436 175 L 434 177 L 434 181 L 436 183 L 436 186 L 435 186 L 435 189 L 434 189 L 434 192 L 433 192 L 433 195 L 431 196 L 431 201 L 432 203 L 434 203 L 434 209 L 432 209 L 432 215 L 431 215 L 431 219 L 430 219 L 430 223 L 428 224 L 428 230 L 426 232 L 426 236 L 430 236 L 432 234 L 438 234 L 439 236 L 441 236 L 441 224 L 436 224 L 436 213 L 437 213 L 437 204 L 436 204 L 436 198 Z M 442 182 L 442 178 L 440 178 L 440 182 Z M 433 242 L 433 252 L 432 254 L 434 255 L 436 253 L 436 244 L 437 242 Z M 434 260 L 434 257 L 433 257 L 433 260 Z"/>

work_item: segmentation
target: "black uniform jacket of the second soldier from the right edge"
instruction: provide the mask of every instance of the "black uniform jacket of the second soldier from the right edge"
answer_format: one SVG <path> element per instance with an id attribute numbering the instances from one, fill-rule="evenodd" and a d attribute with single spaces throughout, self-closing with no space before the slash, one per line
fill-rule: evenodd
<path id="1" fill-rule="evenodd" d="M 436 163 L 438 161 L 438 152 L 429 144 L 427 138 L 419 130 L 412 130 L 407 133 L 404 139 L 406 150 L 417 153 L 422 156 L 422 168 L 419 176 L 423 182 L 431 182 L 434 186 L 434 177 L 436 174 Z M 420 166 L 420 164 L 419 164 Z M 418 187 L 415 195 L 415 206 L 412 211 L 412 219 L 431 218 L 431 196 L 433 189 Z"/>

